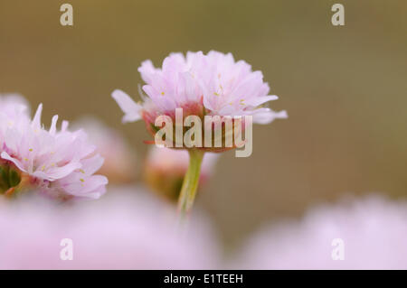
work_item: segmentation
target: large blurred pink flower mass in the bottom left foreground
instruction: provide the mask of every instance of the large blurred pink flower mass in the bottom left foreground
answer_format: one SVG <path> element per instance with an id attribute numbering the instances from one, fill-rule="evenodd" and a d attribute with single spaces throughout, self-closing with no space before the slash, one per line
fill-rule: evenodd
<path id="1" fill-rule="evenodd" d="M 28 200 L 0 205 L 0 269 L 211 269 L 217 244 L 203 221 L 188 233 L 173 210 L 137 189 L 99 201 L 50 206 Z M 62 260 L 62 239 L 73 260 Z M 67 254 L 65 254 L 67 255 Z"/>

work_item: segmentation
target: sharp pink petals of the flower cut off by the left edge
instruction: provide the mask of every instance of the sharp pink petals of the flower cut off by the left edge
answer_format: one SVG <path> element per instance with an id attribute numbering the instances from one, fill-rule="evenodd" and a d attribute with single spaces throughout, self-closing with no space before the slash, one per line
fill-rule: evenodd
<path id="1" fill-rule="evenodd" d="M 46 130 L 41 123 L 42 105 L 31 120 L 21 101 L 7 99 L 7 103 L 0 108 L 0 159 L 13 163 L 30 176 L 33 188 L 52 197 L 97 199 L 105 192 L 107 178 L 94 175 L 103 158 L 94 154 L 96 147 L 83 131 L 69 131 L 67 121 L 58 131 L 58 116 L 52 117 Z"/>

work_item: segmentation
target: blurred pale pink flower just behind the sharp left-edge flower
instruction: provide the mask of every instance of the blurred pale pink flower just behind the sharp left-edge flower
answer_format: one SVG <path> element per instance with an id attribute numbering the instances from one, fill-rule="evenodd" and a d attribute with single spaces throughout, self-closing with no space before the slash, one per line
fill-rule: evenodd
<path id="1" fill-rule="evenodd" d="M 118 131 L 93 117 L 82 118 L 73 126 L 83 128 L 90 142 L 97 146 L 95 153 L 105 159 L 99 173 L 106 175 L 110 183 L 127 183 L 135 179 L 136 154 Z"/>

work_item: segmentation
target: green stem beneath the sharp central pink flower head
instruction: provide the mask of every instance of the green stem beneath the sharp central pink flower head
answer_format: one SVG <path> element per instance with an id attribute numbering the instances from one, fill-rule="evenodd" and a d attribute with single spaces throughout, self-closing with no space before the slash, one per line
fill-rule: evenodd
<path id="1" fill-rule="evenodd" d="M 196 190 L 198 189 L 199 175 L 201 172 L 201 163 L 204 159 L 204 151 L 198 149 L 190 149 L 189 152 L 189 167 L 184 176 L 183 186 L 178 198 L 178 211 L 181 218 L 192 209 Z"/>

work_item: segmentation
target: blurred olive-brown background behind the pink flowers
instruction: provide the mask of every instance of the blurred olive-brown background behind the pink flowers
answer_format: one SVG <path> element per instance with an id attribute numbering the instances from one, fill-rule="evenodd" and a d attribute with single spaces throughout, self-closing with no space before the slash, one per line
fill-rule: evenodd
<path id="1" fill-rule="evenodd" d="M 60 6 L 74 9 L 73 27 Z M 0 0 L 0 93 L 20 92 L 44 122 L 94 115 L 128 137 L 139 159 L 143 123 L 121 125 L 110 98 L 138 98 L 137 67 L 171 51 L 232 51 L 262 70 L 288 120 L 254 129 L 253 153 L 224 153 L 196 205 L 224 243 L 271 219 L 299 216 L 345 193 L 407 195 L 407 2 Z M 140 160 L 141 165 L 141 160 Z"/>

